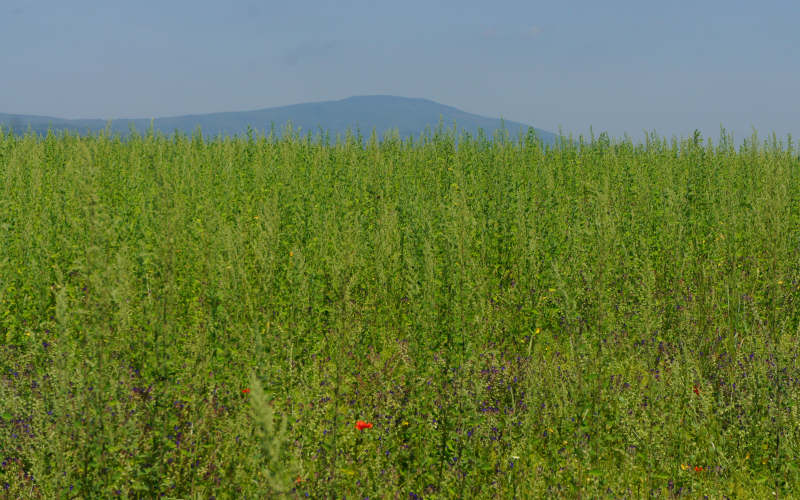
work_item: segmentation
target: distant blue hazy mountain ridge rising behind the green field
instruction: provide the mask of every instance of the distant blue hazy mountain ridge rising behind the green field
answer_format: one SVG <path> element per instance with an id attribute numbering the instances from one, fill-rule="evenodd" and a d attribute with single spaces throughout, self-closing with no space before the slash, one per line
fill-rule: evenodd
<path id="1" fill-rule="evenodd" d="M 455 122 L 460 132 L 469 132 L 472 136 L 481 129 L 488 137 L 492 137 L 496 130 L 504 126 L 509 135 L 516 138 L 518 133 L 525 134 L 529 128 L 529 125 L 511 121 L 501 122 L 497 118 L 467 113 L 428 99 L 373 95 L 256 111 L 155 118 L 152 122 L 150 119 L 112 120 L 111 130 L 127 134 L 133 127 L 139 133 L 144 133 L 152 123 L 156 130 L 166 134 L 176 130 L 191 134 L 200 127 L 206 136 L 218 134 L 232 136 L 246 134 L 248 126 L 255 131 L 268 133 L 274 125 L 275 131 L 280 133 L 286 124 L 291 122 L 295 130 L 299 128 L 302 134 L 309 131 L 316 134 L 320 130 L 326 130 L 331 138 L 335 138 L 337 134 L 344 135 L 348 129 L 352 132 L 359 130 L 362 136 L 369 136 L 374 129 L 379 137 L 395 129 L 403 138 L 413 136 L 416 139 L 426 128 L 435 130 L 440 120 L 444 128 L 452 128 Z M 61 130 L 78 133 L 98 132 L 105 129 L 107 124 L 105 120 L 65 120 L 49 116 L 0 113 L 0 125 L 5 129 L 12 128 L 18 133 L 26 132 L 29 128 L 40 134 L 47 133 L 48 129 L 56 132 Z M 554 134 L 540 129 L 535 130 L 537 136 L 544 142 L 554 141 Z"/>

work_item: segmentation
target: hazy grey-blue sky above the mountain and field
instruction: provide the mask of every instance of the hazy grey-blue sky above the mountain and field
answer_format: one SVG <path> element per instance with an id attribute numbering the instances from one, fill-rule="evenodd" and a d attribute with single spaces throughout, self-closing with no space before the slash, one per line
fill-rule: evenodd
<path id="1" fill-rule="evenodd" d="M 0 0 L 0 46 L 6 113 L 392 94 L 553 131 L 800 137 L 798 0 Z"/>

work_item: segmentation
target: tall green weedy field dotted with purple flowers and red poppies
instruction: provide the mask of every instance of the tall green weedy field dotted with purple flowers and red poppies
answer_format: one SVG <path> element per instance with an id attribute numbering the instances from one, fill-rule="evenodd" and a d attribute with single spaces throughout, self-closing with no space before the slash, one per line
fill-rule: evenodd
<path id="1" fill-rule="evenodd" d="M 0 498 L 798 498 L 791 138 L 0 132 Z"/>

